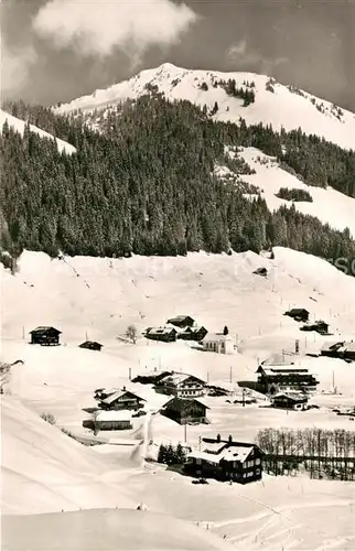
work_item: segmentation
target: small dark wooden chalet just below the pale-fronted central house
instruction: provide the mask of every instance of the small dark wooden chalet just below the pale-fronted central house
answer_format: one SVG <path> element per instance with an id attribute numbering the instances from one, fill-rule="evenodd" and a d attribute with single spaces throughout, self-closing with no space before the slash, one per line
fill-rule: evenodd
<path id="1" fill-rule="evenodd" d="M 172 398 L 161 413 L 179 424 L 207 423 L 206 411 L 209 408 L 194 398 Z"/>

